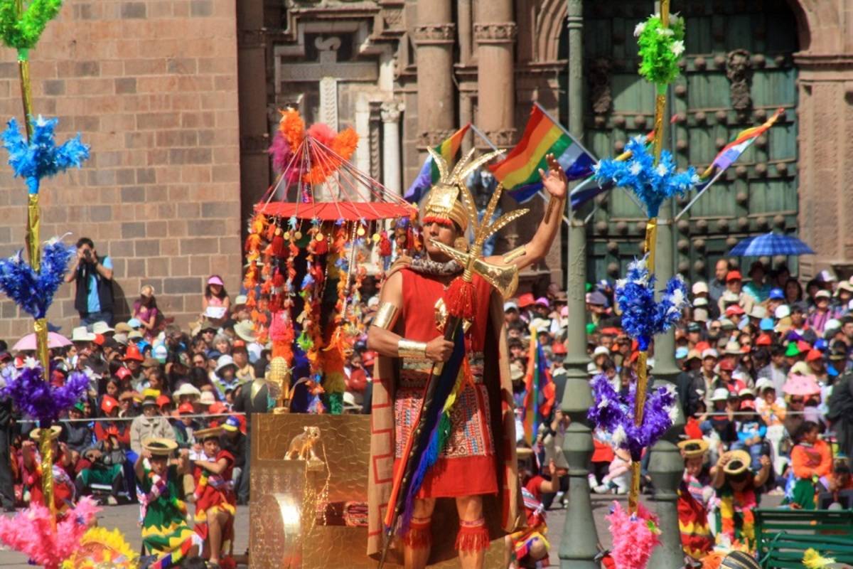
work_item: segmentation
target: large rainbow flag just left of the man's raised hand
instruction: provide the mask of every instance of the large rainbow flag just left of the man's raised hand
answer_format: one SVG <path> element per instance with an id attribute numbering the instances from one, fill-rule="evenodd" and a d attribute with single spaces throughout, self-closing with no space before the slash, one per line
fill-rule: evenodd
<path id="1" fill-rule="evenodd" d="M 539 169 L 548 170 L 546 154 L 554 154 L 569 180 L 588 177 L 595 165 L 595 158 L 580 143 L 534 105 L 524 136 L 505 159 L 489 169 L 503 183 L 504 191 L 524 203 L 542 189 Z"/>

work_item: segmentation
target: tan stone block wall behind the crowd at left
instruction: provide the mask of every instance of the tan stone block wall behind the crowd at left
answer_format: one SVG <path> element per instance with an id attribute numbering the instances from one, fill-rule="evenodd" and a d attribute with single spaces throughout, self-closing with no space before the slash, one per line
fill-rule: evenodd
<path id="1" fill-rule="evenodd" d="M 240 165 L 233 0 L 75 0 L 32 50 L 34 112 L 83 134 L 90 160 L 45 181 L 42 238 L 71 232 L 113 258 L 119 316 L 144 283 L 166 316 L 200 312 L 204 278 L 239 288 Z M 0 59 L 0 116 L 20 120 L 15 54 Z M 26 189 L 0 166 L 0 254 L 23 247 Z M 30 330 L 8 299 L 0 338 Z M 71 334 L 73 285 L 49 321 Z M 11 343 L 10 341 L 10 343 Z"/>

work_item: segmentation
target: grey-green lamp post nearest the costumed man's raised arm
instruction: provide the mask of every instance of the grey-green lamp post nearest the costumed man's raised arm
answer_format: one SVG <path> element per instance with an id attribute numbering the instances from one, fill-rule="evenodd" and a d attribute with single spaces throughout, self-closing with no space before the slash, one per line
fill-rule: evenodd
<path id="1" fill-rule="evenodd" d="M 569 131 L 583 140 L 583 0 L 568 0 L 569 34 Z M 566 200 L 568 202 L 568 200 Z M 569 225 L 567 294 L 569 297 L 568 356 L 566 391 L 562 409 L 572 417 L 563 451 L 569 463 L 569 506 L 560 540 L 563 569 L 598 569 L 598 534 L 589 500 L 589 459 L 594 450 L 592 431 L 586 415 L 593 405 L 586 366 L 586 228 L 581 215 L 574 215 L 566 203 Z"/>

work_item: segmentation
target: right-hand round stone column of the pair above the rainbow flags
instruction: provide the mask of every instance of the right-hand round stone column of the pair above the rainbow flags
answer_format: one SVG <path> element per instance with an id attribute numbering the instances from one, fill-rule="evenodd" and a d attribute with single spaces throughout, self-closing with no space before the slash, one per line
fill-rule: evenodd
<path id="1" fill-rule="evenodd" d="M 514 20 L 512 0 L 477 3 L 477 126 L 500 148 L 515 142 Z"/>

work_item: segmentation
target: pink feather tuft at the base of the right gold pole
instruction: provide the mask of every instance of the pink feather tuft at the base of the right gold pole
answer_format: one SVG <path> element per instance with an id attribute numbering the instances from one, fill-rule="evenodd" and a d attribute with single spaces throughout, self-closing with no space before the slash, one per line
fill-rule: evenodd
<path id="1" fill-rule="evenodd" d="M 659 545 L 658 516 L 637 504 L 637 513 L 631 515 L 619 502 L 613 502 L 610 522 L 613 536 L 611 556 L 619 569 L 646 569 L 655 546 Z"/>

